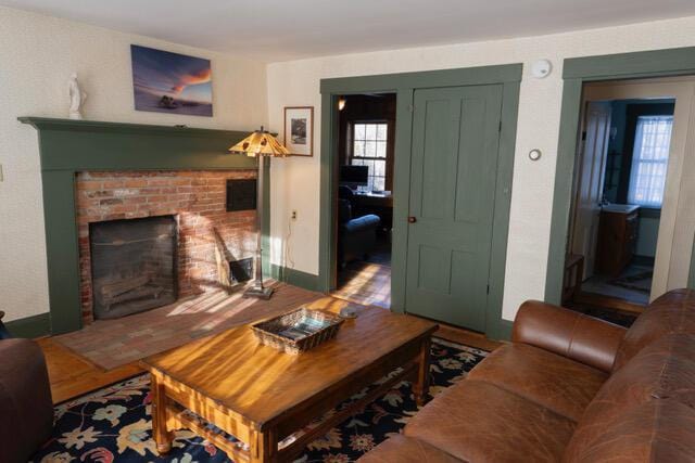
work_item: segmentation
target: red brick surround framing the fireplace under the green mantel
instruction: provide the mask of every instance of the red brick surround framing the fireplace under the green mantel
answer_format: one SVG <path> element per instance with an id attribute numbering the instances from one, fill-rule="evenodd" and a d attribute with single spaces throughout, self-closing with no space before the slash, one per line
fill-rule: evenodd
<path id="1" fill-rule="evenodd" d="M 77 173 L 83 321 L 93 321 L 89 223 L 174 215 L 178 220 L 178 295 L 218 288 L 215 231 L 237 259 L 255 249 L 255 211 L 226 211 L 228 179 L 255 170 L 152 170 Z"/>

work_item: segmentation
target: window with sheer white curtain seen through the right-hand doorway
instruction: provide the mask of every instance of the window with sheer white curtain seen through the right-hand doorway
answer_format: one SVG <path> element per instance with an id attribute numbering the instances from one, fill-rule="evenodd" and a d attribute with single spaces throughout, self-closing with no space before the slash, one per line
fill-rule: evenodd
<path id="1" fill-rule="evenodd" d="M 634 137 L 628 203 L 661 207 L 673 116 L 640 116 Z"/>

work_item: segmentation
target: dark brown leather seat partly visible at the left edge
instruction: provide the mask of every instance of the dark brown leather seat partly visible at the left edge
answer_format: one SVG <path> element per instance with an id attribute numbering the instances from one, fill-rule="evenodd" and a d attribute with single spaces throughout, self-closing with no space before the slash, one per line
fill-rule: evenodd
<path id="1" fill-rule="evenodd" d="M 26 462 L 50 437 L 53 402 L 41 348 L 0 340 L 0 462 Z"/>

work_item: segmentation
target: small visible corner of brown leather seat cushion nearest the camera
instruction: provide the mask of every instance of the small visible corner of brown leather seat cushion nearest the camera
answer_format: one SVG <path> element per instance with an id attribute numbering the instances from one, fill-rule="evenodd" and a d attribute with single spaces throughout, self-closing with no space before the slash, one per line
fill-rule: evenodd
<path id="1" fill-rule="evenodd" d="M 359 460 L 359 463 L 460 463 L 460 460 L 418 439 L 391 436 Z"/>

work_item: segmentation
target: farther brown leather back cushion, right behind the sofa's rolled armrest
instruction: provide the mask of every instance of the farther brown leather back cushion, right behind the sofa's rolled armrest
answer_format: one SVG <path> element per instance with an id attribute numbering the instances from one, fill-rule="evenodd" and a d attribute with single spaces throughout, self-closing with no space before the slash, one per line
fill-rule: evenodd
<path id="1" fill-rule="evenodd" d="M 652 303 L 626 333 L 612 370 L 620 370 L 645 346 L 671 333 L 695 334 L 695 292 L 675 290 Z"/>

